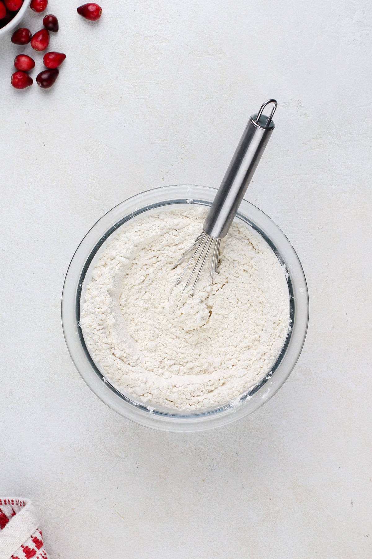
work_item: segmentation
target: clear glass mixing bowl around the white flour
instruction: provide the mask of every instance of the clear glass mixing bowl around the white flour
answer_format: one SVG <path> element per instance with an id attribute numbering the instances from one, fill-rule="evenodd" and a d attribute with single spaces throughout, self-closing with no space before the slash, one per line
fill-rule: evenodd
<path id="1" fill-rule="evenodd" d="M 143 212 L 183 204 L 210 206 L 215 188 L 180 184 L 163 186 L 128 198 L 107 212 L 81 241 L 67 269 L 62 292 L 62 326 L 67 348 L 86 384 L 110 408 L 125 418 L 146 427 L 173 432 L 204 431 L 227 425 L 257 410 L 287 380 L 301 353 L 308 323 L 308 292 L 305 275 L 296 252 L 286 235 L 270 218 L 251 203 L 243 200 L 236 215 L 263 237 L 286 270 L 291 305 L 291 325 L 281 353 L 271 371 L 248 392 L 217 409 L 173 413 L 150 408 L 133 396 L 126 395 L 104 377 L 90 357 L 80 327 L 80 310 L 91 272 L 110 237 L 129 220 Z"/>

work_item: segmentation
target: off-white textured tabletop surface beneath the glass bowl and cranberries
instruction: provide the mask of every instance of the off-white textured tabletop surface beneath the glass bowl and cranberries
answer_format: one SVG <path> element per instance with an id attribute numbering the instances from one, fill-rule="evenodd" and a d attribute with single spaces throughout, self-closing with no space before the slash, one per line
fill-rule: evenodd
<path id="1" fill-rule="evenodd" d="M 49 91 L 11 88 L 22 49 L 0 40 L 0 492 L 32 499 L 52 559 L 371 557 L 371 7 L 110 0 L 95 25 L 77 5 L 49 3 L 67 54 Z M 269 96 L 276 131 L 247 197 L 305 268 L 302 356 L 240 423 L 138 427 L 70 361 L 66 268 L 124 198 L 218 186 Z"/>

